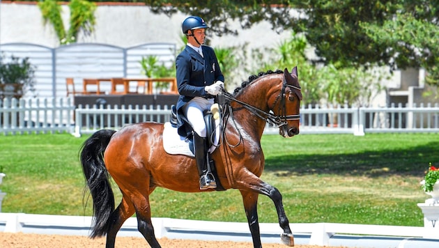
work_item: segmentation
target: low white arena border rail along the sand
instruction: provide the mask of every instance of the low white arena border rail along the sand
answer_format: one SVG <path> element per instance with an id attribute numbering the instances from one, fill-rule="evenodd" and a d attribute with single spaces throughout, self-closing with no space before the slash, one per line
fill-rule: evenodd
<path id="1" fill-rule="evenodd" d="M 152 218 L 156 238 L 190 240 L 233 240 L 251 242 L 245 222 L 206 222 L 189 219 Z M 91 217 L 63 215 L 30 215 L 0 212 L 0 231 L 89 235 Z M 277 223 L 261 223 L 261 240 L 279 243 L 282 228 Z M 291 223 L 296 245 L 344 247 L 437 247 L 438 233 L 422 226 L 384 226 L 338 223 Z M 354 236 L 360 234 L 361 236 Z M 119 236 L 141 238 L 137 220 L 130 217 Z M 369 236 L 373 235 L 373 236 Z M 428 238 L 426 238 L 426 235 Z M 360 244 L 359 244 L 360 243 Z"/>

